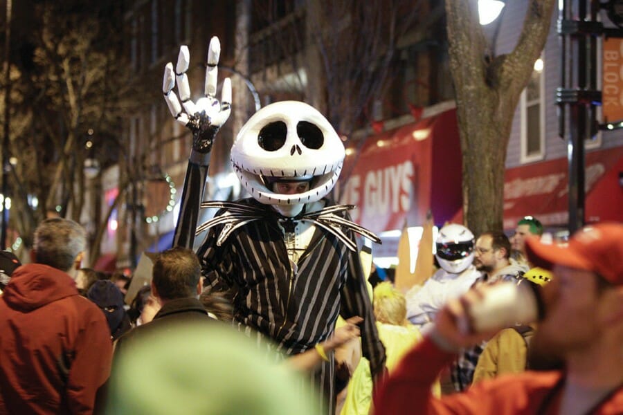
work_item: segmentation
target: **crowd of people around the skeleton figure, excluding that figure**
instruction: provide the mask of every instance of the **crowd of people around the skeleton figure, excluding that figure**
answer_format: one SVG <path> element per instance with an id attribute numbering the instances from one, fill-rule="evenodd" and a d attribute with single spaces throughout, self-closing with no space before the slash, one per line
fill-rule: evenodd
<path id="1" fill-rule="evenodd" d="M 305 374 L 329 356 L 335 414 L 623 413 L 623 225 L 587 226 L 565 245 L 542 232 L 531 217 L 510 239 L 446 225 L 422 286 L 371 278 L 386 353 L 375 385 L 361 317 L 277 356 L 233 328 L 235 300 L 204 289 L 192 250 L 156 255 L 151 284 L 126 304 L 130 279 L 80 268 L 82 227 L 46 219 L 29 264 L 0 255 L 0 413 L 318 414 Z M 539 321 L 466 331 L 500 284 L 530 284 Z"/>

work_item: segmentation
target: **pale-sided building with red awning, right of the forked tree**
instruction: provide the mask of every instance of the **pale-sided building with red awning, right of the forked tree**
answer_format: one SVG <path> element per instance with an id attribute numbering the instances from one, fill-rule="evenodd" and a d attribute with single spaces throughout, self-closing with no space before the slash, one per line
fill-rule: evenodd
<path id="1" fill-rule="evenodd" d="M 498 37 L 494 39 L 497 53 L 507 53 L 521 33 L 527 1 L 507 1 L 500 15 Z M 536 62 L 532 80 L 521 96 L 515 111 L 506 158 L 505 229 L 514 229 L 518 219 L 536 216 L 552 230 L 568 226 L 568 135 L 566 128 L 559 134 L 556 90 L 562 86 L 561 42 L 557 33 L 559 13 L 554 9 L 550 35 L 541 59 Z M 604 12 L 600 19 L 613 26 Z M 603 37 L 597 39 L 597 87 L 603 89 Z M 570 75 L 568 75 L 570 76 Z M 605 124 L 597 107 L 597 122 Z M 611 120 L 615 121 L 615 120 Z M 623 220 L 623 130 L 597 129 L 587 134 L 584 142 L 585 221 Z"/>

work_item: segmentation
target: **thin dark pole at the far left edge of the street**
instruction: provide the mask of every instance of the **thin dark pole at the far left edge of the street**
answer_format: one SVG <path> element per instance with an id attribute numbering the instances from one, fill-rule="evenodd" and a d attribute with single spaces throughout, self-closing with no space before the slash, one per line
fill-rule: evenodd
<path id="1" fill-rule="evenodd" d="M 6 28 L 4 39 L 4 136 L 2 142 L 2 227 L 0 231 L 0 249 L 6 249 L 8 228 L 8 170 L 9 170 L 9 125 L 10 125 L 10 95 L 11 95 L 11 11 L 12 0 L 6 0 Z"/>

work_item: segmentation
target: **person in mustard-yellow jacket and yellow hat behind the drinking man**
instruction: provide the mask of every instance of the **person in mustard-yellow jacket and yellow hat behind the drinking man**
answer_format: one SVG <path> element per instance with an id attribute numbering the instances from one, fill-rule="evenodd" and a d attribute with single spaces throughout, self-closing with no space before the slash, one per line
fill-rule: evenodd
<path id="1" fill-rule="evenodd" d="M 531 268 L 523 277 L 532 284 L 543 286 L 550 282 L 552 273 L 543 268 Z M 478 359 L 472 383 L 527 369 L 528 347 L 535 329 L 535 324 L 515 326 L 494 335 Z"/>

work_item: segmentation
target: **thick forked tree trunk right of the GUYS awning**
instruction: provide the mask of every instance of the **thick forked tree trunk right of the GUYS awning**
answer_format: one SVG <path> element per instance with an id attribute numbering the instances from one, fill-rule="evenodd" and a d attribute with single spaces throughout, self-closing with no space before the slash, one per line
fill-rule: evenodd
<path id="1" fill-rule="evenodd" d="M 476 0 L 446 0 L 450 69 L 463 162 L 463 221 L 503 230 L 504 172 L 514 111 L 550 31 L 554 0 L 531 0 L 518 43 L 491 56 Z"/>

